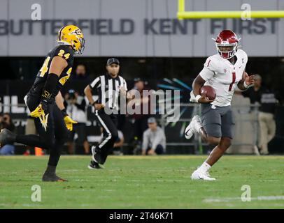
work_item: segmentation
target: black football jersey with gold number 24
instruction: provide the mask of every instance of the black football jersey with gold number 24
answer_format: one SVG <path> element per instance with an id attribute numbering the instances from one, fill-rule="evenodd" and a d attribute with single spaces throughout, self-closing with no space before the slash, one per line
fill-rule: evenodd
<path id="1" fill-rule="evenodd" d="M 38 98 L 41 97 L 41 93 L 43 91 L 43 86 L 45 85 L 45 81 L 48 78 L 48 72 L 50 68 L 50 63 L 55 56 L 62 56 L 63 59 L 66 59 L 68 65 L 62 71 L 61 75 L 59 76 L 56 91 L 52 92 L 52 98 L 55 98 L 58 91 L 62 89 L 62 86 L 67 82 L 71 75 L 72 66 L 73 66 L 73 50 L 68 45 L 59 45 L 48 53 L 41 67 L 41 70 L 38 71 L 36 75 L 36 80 L 34 81 L 33 86 L 29 90 L 28 95 L 33 95 Z"/>

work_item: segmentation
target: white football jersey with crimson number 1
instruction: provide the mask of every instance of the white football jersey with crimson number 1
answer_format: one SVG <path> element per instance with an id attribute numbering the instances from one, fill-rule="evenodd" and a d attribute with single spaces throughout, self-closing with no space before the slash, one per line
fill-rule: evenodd
<path id="1" fill-rule="evenodd" d="M 203 70 L 199 73 L 206 81 L 204 86 L 212 86 L 216 91 L 216 98 L 211 102 L 215 106 L 231 105 L 234 90 L 246 70 L 248 62 L 246 52 L 238 49 L 235 56 L 237 60 L 234 65 L 227 59 L 223 59 L 220 54 L 209 56 L 204 63 Z"/>

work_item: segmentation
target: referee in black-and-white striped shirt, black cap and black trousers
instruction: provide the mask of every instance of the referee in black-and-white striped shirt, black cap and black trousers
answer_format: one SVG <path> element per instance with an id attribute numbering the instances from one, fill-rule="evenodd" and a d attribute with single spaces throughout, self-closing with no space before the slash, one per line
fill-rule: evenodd
<path id="1" fill-rule="evenodd" d="M 104 129 L 104 138 L 97 146 L 92 146 L 92 160 L 88 166 L 89 169 L 101 169 L 100 164 L 106 162 L 108 151 L 113 148 L 113 144 L 118 139 L 118 118 L 116 114 L 120 110 L 120 95 L 127 97 L 127 84 L 125 79 L 118 75 L 120 71 L 120 61 L 116 58 L 108 59 L 106 62 L 106 74 L 94 79 L 92 83 L 85 88 L 85 95 L 90 104 L 95 108 L 97 121 Z M 99 99 L 94 101 L 92 95 L 99 95 Z M 111 114 L 106 113 L 113 111 Z"/>

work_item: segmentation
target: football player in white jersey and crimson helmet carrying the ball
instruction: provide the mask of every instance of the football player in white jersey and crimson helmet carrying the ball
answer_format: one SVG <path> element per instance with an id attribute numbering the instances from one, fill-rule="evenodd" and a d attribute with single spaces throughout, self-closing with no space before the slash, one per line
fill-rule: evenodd
<path id="1" fill-rule="evenodd" d="M 218 54 L 209 56 L 204 68 L 194 79 L 190 101 L 201 103 L 201 118 L 194 116 L 185 129 L 185 138 L 190 139 L 197 132 L 208 144 L 217 145 L 201 167 L 192 174 L 193 180 L 215 180 L 208 170 L 231 145 L 234 117 L 231 100 L 235 89 L 245 91 L 254 83 L 254 76 L 246 73 L 248 56 L 238 49 L 239 39 L 230 30 L 223 30 L 215 40 Z M 212 86 L 215 100 L 200 95 L 201 86 Z"/>

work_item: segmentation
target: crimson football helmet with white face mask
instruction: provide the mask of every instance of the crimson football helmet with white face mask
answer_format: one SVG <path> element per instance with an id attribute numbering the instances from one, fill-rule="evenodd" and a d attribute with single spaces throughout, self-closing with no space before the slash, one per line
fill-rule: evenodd
<path id="1" fill-rule="evenodd" d="M 223 30 L 219 33 L 215 41 L 217 52 L 224 59 L 230 59 L 236 53 L 236 47 L 238 47 L 239 40 L 236 34 L 231 30 Z"/>

